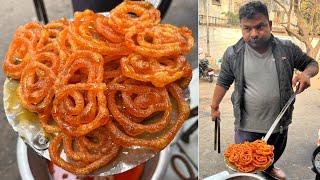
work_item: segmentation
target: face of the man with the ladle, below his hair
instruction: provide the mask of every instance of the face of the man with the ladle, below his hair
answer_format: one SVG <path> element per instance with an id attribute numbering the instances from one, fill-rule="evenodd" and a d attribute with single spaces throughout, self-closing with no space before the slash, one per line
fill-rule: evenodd
<path id="1" fill-rule="evenodd" d="M 271 37 L 272 22 L 258 13 L 252 19 L 240 21 L 242 37 L 254 49 L 266 48 Z"/>

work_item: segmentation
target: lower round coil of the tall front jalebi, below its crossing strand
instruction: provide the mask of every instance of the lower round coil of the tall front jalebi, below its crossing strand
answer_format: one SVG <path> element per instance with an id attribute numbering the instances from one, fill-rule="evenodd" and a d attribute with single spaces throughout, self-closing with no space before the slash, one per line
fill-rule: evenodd
<path id="1" fill-rule="evenodd" d="M 56 91 L 52 116 L 68 135 L 79 137 L 107 124 L 103 83 L 77 83 Z"/>

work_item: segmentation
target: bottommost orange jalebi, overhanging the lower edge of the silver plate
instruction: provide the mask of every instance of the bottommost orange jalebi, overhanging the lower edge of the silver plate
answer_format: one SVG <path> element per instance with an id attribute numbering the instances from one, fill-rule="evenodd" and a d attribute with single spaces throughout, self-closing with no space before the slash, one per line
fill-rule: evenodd
<path id="1" fill-rule="evenodd" d="M 60 157 L 61 149 L 64 149 L 72 162 Z M 119 149 L 119 146 L 111 142 L 105 128 L 100 128 L 79 138 L 59 134 L 51 141 L 49 153 L 53 163 L 77 175 L 85 175 L 112 161 Z"/>

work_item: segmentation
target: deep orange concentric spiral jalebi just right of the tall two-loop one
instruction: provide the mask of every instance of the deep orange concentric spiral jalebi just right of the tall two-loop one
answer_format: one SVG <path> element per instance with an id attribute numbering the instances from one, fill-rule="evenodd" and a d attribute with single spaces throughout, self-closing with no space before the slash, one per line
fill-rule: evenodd
<path id="1" fill-rule="evenodd" d="M 117 78 L 115 81 L 118 79 L 121 81 L 121 78 Z M 127 134 L 136 136 L 145 132 L 158 132 L 169 123 L 171 105 L 165 88 L 154 88 L 140 84 L 126 84 L 124 81 L 122 83 L 111 83 L 109 90 L 111 91 L 108 93 L 109 110 Z M 117 105 L 116 95 L 118 91 L 122 97 L 122 104 Z M 125 108 L 126 115 L 119 110 L 118 106 Z M 163 112 L 162 117 L 155 120 L 152 124 L 140 124 L 131 120 L 131 116 L 150 118 L 151 115 L 160 112 Z"/>

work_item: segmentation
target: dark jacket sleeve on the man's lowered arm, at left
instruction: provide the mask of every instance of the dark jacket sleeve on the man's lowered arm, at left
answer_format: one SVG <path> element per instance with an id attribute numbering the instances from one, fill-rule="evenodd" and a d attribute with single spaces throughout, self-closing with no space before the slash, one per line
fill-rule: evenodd
<path id="1" fill-rule="evenodd" d="M 223 54 L 221 70 L 217 81 L 217 85 L 222 86 L 226 90 L 229 89 L 235 78 L 231 62 L 232 51 L 232 47 L 229 47 Z"/>

